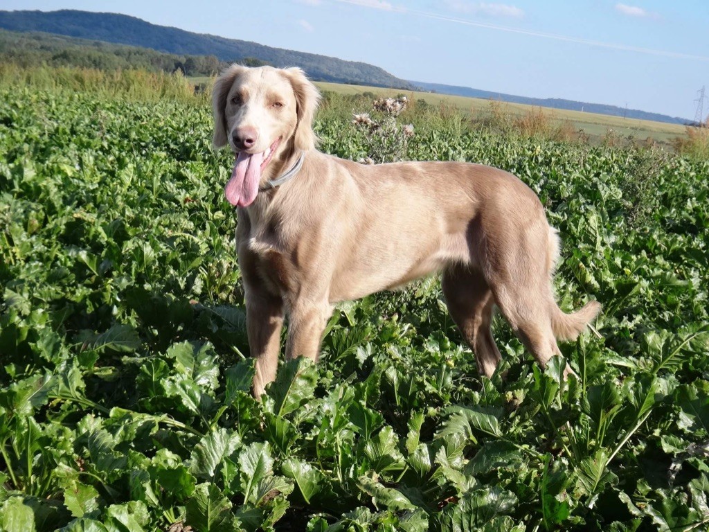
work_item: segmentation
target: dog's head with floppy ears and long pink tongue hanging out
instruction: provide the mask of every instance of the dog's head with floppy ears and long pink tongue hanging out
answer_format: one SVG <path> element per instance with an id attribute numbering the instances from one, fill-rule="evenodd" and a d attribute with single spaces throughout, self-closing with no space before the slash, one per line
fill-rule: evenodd
<path id="1" fill-rule="evenodd" d="M 225 187 L 233 205 L 248 206 L 269 177 L 269 162 L 293 150 L 312 150 L 313 116 L 320 93 L 299 68 L 232 65 L 212 92 L 215 148 L 230 145 L 236 155 Z"/>

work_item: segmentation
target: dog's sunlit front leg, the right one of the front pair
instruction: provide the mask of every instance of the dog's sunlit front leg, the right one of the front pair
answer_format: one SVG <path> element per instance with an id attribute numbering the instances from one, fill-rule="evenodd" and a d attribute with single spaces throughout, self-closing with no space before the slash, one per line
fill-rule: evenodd
<path id="1" fill-rule="evenodd" d="M 328 319 L 333 314 L 333 306 L 323 301 L 296 301 L 289 311 L 288 340 L 286 358 L 299 356 L 318 360 L 320 340 Z"/>

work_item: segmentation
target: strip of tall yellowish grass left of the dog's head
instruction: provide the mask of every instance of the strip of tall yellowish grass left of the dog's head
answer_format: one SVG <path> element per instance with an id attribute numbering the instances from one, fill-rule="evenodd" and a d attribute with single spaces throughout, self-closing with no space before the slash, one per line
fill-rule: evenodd
<path id="1" fill-rule="evenodd" d="M 177 99 L 202 103 L 206 96 L 196 94 L 195 87 L 179 72 L 147 72 L 147 70 L 103 71 L 79 67 L 22 67 L 0 63 L 0 87 L 33 87 L 92 92 L 105 96 L 157 101 Z"/>

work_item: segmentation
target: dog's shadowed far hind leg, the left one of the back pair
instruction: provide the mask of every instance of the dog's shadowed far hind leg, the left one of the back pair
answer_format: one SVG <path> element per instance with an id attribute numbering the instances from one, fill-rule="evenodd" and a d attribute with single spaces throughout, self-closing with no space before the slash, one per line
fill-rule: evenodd
<path id="1" fill-rule="evenodd" d="M 449 267 L 441 285 L 448 311 L 475 353 L 478 371 L 491 377 L 501 355 L 490 329 L 495 303 L 490 288 L 479 272 L 463 265 Z"/>

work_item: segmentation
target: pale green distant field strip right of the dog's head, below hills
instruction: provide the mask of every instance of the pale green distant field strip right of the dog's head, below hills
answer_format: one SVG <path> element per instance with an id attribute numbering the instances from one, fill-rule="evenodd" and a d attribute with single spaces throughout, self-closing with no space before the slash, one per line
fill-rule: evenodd
<path id="1" fill-rule="evenodd" d="M 481 98 L 468 98 L 466 96 L 448 96 L 447 94 L 434 94 L 430 92 L 402 91 L 401 89 L 382 89 L 381 87 L 364 87 L 359 85 L 343 85 L 338 83 L 316 82 L 316 85 L 325 91 L 340 92 L 342 94 L 362 94 L 362 92 L 372 92 L 377 96 L 392 96 L 396 94 L 406 94 L 409 98 L 423 99 L 428 104 L 437 105 L 440 102 L 454 105 L 458 109 L 467 109 L 471 115 L 485 113 L 489 106 L 489 100 Z M 508 104 L 510 113 L 523 115 L 532 109 L 532 106 L 525 104 Z M 582 113 L 581 111 L 566 111 L 565 109 L 545 108 L 552 116 L 552 119 L 559 122 L 569 120 L 576 129 L 583 129 L 591 137 L 601 137 L 612 129 L 616 134 L 627 137 L 633 135 L 635 138 L 644 140 L 652 137 L 660 143 L 668 143 L 674 137 L 685 135 L 684 126 L 663 122 L 647 120 L 637 120 L 635 118 L 622 118 L 596 113 Z"/>

